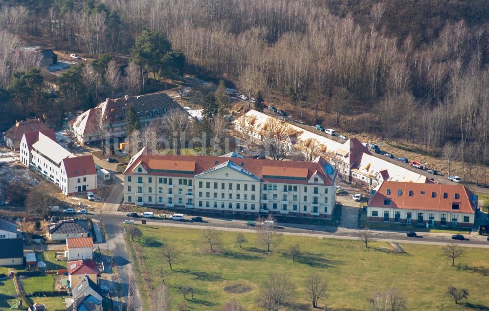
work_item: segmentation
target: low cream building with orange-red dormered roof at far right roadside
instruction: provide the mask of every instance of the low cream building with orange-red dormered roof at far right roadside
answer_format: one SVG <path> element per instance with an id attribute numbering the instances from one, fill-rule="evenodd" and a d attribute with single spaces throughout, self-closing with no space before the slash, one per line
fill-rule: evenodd
<path id="1" fill-rule="evenodd" d="M 383 181 L 367 204 L 367 221 L 471 228 L 478 197 L 464 185 Z"/>

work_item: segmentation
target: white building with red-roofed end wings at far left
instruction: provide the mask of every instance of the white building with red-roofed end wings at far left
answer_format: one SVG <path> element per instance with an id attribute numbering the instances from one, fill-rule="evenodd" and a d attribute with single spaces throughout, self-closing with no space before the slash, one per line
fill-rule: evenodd
<path id="1" fill-rule="evenodd" d="M 58 144 L 52 130 L 24 133 L 20 153 L 23 165 L 37 170 L 66 195 L 97 189 L 93 156 L 73 155 Z"/>

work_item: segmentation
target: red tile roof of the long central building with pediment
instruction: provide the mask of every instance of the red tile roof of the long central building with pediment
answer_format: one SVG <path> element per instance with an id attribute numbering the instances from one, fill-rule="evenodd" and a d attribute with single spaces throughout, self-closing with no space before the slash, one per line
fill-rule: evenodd
<path id="1" fill-rule="evenodd" d="M 150 175 L 188 178 L 194 177 L 227 161 L 235 163 L 238 167 L 256 175 L 264 182 L 280 182 L 287 179 L 285 181 L 287 183 L 307 183 L 317 173 L 325 180 L 325 185 L 333 185 L 336 174 L 336 170 L 323 158 L 320 158 L 317 162 L 295 162 L 251 158 L 224 158 L 220 156 L 156 155 L 152 154 L 146 148 L 143 148 L 137 155 L 134 155 L 124 174 L 137 174 L 137 172 L 133 172 L 133 169 L 141 163 L 142 166 L 148 169 L 168 170 L 168 172 L 149 172 Z M 328 166 L 332 168 L 329 178 L 327 178 L 326 174 L 326 167 Z M 180 173 L 185 171 L 193 172 L 193 174 Z M 305 178 L 305 180 L 297 178 Z"/>

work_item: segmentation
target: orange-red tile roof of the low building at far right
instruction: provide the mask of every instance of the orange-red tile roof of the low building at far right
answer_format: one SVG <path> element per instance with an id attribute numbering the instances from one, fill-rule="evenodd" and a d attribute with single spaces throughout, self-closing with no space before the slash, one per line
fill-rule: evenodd
<path id="1" fill-rule="evenodd" d="M 389 194 L 387 194 L 387 192 L 389 192 Z M 458 195 L 458 199 L 456 199 L 456 195 Z M 390 199 L 390 205 L 384 205 L 384 200 L 386 199 Z M 458 203 L 459 209 L 453 209 L 452 203 Z M 377 192 L 368 202 L 369 207 L 459 212 L 470 214 L 474 213 L 473 206 L 476 205 L 477 196 L 474 196 L 474 194 L 463 185 L 400 181 L 382 182 Z"/>

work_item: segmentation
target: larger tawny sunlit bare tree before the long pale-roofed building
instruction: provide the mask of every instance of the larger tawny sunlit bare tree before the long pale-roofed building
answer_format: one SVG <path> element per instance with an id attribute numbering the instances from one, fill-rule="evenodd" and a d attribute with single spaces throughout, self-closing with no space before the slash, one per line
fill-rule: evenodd
<path id="1" fill-rule="evenodd" d="M 302 133 L 277 118 L 267 118 L 260 132 L 263 137 L 262 143 L 273 160 L 283 160 L 292 147 L 294 137 Z"/>

